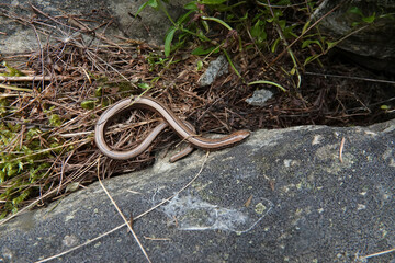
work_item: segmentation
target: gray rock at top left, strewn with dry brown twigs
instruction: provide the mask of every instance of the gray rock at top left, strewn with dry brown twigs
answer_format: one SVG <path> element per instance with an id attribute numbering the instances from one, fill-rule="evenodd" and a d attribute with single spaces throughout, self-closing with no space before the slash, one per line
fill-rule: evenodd
<path id="1" fill-rule="evenodd" d="M 37 18 L 34 18 L 35 12 L 30 8 L 29 2 L 32 2 L 34 7 L 44 13 L 56 18 L 58 15 L 81 15 L 81 18 L 102 19 L 113 23 L 110 26 L 101 27 L 97 30 L 97 33 L 105 33 L 106 37 L 112 42 L 117 42 L 115 36 L 127 37 L 135 41 L 145 41 L 155 45 L 162 45 L 163 37 L 171 23 L 161 11 L 155 11 L 153 8 L 147 7 L 139 15 L 140 19 L 135 19 L 131 14 L 136 14 L 138 8 L 146 2 L 146 0 L 0 0 L 0 52 L 3 54 L 23 53 L 38 50 L 38 41 L 33 30 L 33 26 L 37 27 L 38 37 L 44 46 L 48 41 L 58 38 L 66 41 L 68 38 L 77 37 L 80 32 L 75 32 L 70 28 L 70 25 L 76 26 L 67 19 L 59 19 L 60 23 L 55 23 L 52 19 L 44 19 L 46 24 L 32 23 L 22 24 L 15 22 L 12 18 L 22 16 L 26 21 L 36 21 L 37 18 L 43 19 L 42 14 L 36 13 Z M 183 4 L 187 0 L 176 0 L 166 5 L 170 15 L 173 19 L 183 13 Z M 92 18 L 94 20 L 94 18 Z M 102 23 L 103 21 L 98 21 Z M 89 22 L 86 22 L 91 25 Z M 91 25 L 91 28 L 98 26 Z M 41 34 L 41 30 L 45 30 L 46 34 Z M 5 35 L 4 35 L 5 34 Z M 84 37 L 90 37 L 91 34 L 83 34 Z M 89 43 L 89 41 L 87 41 Z"/>

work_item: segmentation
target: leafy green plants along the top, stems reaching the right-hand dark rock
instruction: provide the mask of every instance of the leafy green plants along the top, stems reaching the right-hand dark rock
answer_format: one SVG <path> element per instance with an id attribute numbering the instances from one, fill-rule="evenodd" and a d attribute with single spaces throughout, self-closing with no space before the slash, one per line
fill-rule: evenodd
<path id="1" fill-rule="evenodd" d="M 290 0 L 193 0 L 184 5 L 185 13 L 174 21 L 166 10 L 167 2 L 169 1 L 148 0 L 138 10 L 138 13 L 146 7 L 161 10 L 171 22 L 172 25 L 165 38 L 167 58 L 180 47 L 192 49 L 192 55 L 205 56 L 201 61 L 212 54 L 223 53 L 235 73 L 242 79 L 242 75 L 232 61 L 230 53 L 253 50 L 268 67 L 273 66 L 284 54 L 289 54 L 292 68 L 281 67 L 281 70 L 287 77 L 297 77 L 297 81 L 293 81 L 295 88 L 301 87 L 300 70 L 306 65 L 315 61 L 323 66 L 319 58 L 340 42 L 373 24 L 379 18 L 392 16 L 392 14 L 376 13 L 364 15 L 360 9 L 351 8 L 349 12 L 359 18 L 359 21 L 353 22 L 352 25 L 360 27 L 338 39 L 330 39 L 321 35 L 318 24 L 340 4 L 318 20 L 312 20 L 319 1 L 295 3 Z M 301 45 L 295 45 L 296 43 Z M 275 58 L 268 62 L 267 58 L 270 54 L 275 54 Z M 156 59 L 154 64 L 161 62 L 160 59 Z M 278 88 L 282 87 L 281 90 L 284 89 L 283 85 L 270 80 L 259 81 L 258 83 L 274 83 Z"/>

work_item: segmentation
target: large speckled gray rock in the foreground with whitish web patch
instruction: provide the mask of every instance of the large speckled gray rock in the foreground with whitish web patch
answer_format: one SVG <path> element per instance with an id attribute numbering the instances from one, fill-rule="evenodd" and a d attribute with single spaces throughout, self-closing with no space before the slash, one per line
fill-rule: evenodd
<path id="1" fill-rule="evenodd" d="M 339 149 L 345 145 L 341 161 Z M 357 262 L 395 243 L 395 121 L 258 130 L 244 144 L 104 181 L 153 262 Z M 0 262 L 144 262 L 98 183 L 0 226 Z M 394 254 L 376 256 L 390 262 Z M 374 261 L 373 261 L 374 262 Z"/>

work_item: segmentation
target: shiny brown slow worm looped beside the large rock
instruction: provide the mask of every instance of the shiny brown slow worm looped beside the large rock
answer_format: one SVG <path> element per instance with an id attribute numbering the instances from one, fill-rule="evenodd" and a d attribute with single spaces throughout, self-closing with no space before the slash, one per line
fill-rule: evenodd
<path id="1" fill-rule="evenodd" d="M 105 128 L 111 121 L 116 115 L 132 108 L 146 108 L 157 112 L 165 122 L 160 123 L 144 141 L 138 145 L 136 148 L 129 151 L 116 151 L 111 149 L 105 142 Z M 226 135 L 221 138 L 205 138 L 196 135 L 193 126 L 185 121 L 178 118 L 167 106 L 161 104 L 159 101 L 149 98 L 149 96 L 138 96 L 133 99 L 124 99 L 109 107 L 100 116 L 95 129 L 94 129 L 94 140 L 98 148 L 108 157 L 119 160 L 131 159 L 143 153 L 154 139 L 167 127 L 170 126 L 183 140 L 190 142 L 193 147 L 206 149 L 206 150 L 217 150 L 230 147 L 237 142 L 240 142 L 250 135 L 249 130 L 237 130 L 230 135 Z M 185 150 L 178 153 L 173 157 L 173 160 L 184 157 L 190 153 L 192 148 L 187 148 Z"/>

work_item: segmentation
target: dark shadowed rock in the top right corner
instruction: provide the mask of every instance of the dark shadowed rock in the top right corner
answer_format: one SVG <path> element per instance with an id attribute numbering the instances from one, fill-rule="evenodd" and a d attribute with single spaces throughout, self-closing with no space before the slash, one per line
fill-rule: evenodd
<path id="1" fill-rule="evenodd" d="M 350 12 L 350 9 L 358 8 L 365 18 L 375 14 L 374 23 L 357 34 L 350 34 L 337 47 L 343 49 L 346 52 L 345 55 L 368 68 L 395 72 L 395 1 L 326 0 L 316 9 L 314 19 L 321 18 L 340 3 L 341 5 L 337 10 L 319 23 L 321 32 L 335 39 L 340 39 L 356 32 L 359 27 L 368 25 L 362 21 L 360 14 Z M 354 22 L 360 23 L 360 25 L 353 26 Z"/>

